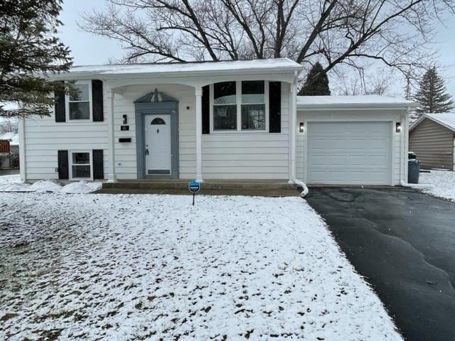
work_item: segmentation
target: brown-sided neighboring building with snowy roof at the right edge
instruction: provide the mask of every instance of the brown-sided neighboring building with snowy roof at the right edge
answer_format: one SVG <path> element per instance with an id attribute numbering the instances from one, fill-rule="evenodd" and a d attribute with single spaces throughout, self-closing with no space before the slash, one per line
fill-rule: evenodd
<path id="1" fill-rule="evenodd" d="M 455 169 L 455 113 L 423 114 L 410 127 L 410 151 L 424 169 Z"/>

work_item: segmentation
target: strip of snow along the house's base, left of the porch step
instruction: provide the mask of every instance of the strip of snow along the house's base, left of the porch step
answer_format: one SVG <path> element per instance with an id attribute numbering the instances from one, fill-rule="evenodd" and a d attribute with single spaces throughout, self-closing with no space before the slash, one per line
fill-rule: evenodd
<path id="1" fill-rule="evenodd" d="M 90 193 L 100 190 L 102 183 L 77 181 L 62 185 L 55 180 L 40 180 L 36 183 L 22 183 L 20 175 L 0 176 L 0 192 L 60 192 L 60 193 Z"/>

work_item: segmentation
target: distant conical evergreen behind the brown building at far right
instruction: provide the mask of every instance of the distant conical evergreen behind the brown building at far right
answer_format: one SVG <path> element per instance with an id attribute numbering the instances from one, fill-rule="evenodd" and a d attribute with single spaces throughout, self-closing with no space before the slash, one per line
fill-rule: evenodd
<path id="1" fill-rule="evenodd" d="M 438 75 L 436 67 L 425 72 L 419 82 L 419 90 L 414 99 L 419 102 L 417 114 L 449 112 L 454 109 L 454 101 L 446 92 L 444 79 Z"/>

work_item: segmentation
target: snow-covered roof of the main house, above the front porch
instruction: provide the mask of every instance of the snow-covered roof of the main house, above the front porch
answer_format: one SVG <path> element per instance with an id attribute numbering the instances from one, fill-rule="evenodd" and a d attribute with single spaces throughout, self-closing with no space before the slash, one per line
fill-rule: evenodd
<path id="1" fill-rule="evenodd" d="M 172 72 L 219 72 L 232 70 L 264 70 L 264 69 L 301 70 L 303 67 L 289 58 L 261 60 L 229 60 L 222 62 L 191 62 L 191 63 L 141 63 L 74 66 L 70 73 L 95 73 L 97 75 L 124 75 L 138 73 L 172 73 Z"/>

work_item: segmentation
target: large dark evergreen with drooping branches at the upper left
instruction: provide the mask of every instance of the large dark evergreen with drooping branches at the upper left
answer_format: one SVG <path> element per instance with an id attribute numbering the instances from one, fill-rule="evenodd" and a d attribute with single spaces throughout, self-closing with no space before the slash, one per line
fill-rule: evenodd
<path id="1" fill-rule="evenodd" d="M 62 82 L 47 76 L 69 70 L 70 50 L 54 35 L 62 0 L 0 0 L 0 117 L 49 115 Z M 2 102 L 21 109 L 6 110 Z"/>

